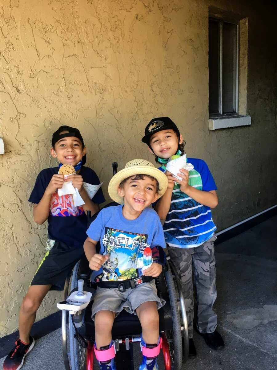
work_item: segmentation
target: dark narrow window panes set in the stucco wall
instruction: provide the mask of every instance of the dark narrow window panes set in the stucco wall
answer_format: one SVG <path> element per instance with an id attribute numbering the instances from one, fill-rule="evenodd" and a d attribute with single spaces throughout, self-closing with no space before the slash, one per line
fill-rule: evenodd
<path id="1" fill-rule="evenodd" d="M 209 116 L 238 115 L 238 24 L 209 19 Z"/>

